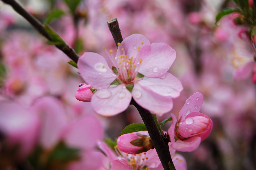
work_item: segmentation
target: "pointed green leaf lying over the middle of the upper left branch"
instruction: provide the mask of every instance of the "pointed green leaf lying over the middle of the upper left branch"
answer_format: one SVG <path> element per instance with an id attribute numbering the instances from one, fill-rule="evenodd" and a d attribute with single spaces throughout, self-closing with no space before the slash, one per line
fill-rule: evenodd
<path id="1" fill-rule="evenodd" d="M 52 39 L 52 41 L 47 42 L 48 44 L 67 47 L 66 42 L 49 25 L 44 24 L 44 29 Z"/>

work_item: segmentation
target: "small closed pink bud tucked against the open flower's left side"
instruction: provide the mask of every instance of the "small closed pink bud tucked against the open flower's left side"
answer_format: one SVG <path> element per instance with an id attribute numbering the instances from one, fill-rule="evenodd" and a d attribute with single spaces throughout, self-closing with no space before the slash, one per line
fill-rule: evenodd
<path id="1" fill-rule="evenodd" d="M 90 84 L 81 83 L 76 91 L 76 99 L 82 102 L 90 102 L 93 95 L 90 88 Z"/>

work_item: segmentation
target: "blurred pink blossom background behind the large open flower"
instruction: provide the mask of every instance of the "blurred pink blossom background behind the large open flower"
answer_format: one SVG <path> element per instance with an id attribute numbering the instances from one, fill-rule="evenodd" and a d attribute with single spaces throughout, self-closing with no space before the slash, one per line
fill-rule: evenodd
<path id="1" fill-rule="evenodd" d="M 112 18 L 118 19 L 123 38 L 139 33 L 150 43 L 170 45 L 177 58 L 169 72 L 184 87 L 180 97 L 174 99 L 171 112 L 178 117 L 185 100 L 200 92 L 204 95 L 200 112 L 213 121 L 212 133 L 198 149 L 178 152 L 186 158 L 188 169 L 256 169 L 256 86 L 251 80 L 255 54 L 239 36 L 243 27 L 234 24 L 232 15 L 215 24 L 216 14 L 226 7 L 235 7 L 234 3 L 83 0 L 73 12 L 63 0 L 20 3 L 37 19 L 48 22 L 79 55 L 92 51 L 106 56 L 103 46 L 115 54 L 116 45 L 107 25 Z M 54 11 L 58 13 L 55 18 L 49 17 Z M 102 117 L 89 102 L 76 100 L 76 90 L 84 80 L 78 69 L 67 63 L 70 59 L 46 42 L 25 19 L 0 1 L 0 100 L 29 107 L 40 97 L 54 97 L 63 106 L 68 121 L 84 115 L 97 118 L 105 138 L 115 139 L 125 126 L 142 122 L 133 106 L 116 116 Z M 244 65 L 249 71 L 237 76 Z M 170 113 L 158 120 L 169 118 Z M 170 122 L 164 129 L 169 126 Z M 3 146 L 0 143 L 2 160 L 6 154 Z M 6 160 L 0 161 L 0 166 Z"/>

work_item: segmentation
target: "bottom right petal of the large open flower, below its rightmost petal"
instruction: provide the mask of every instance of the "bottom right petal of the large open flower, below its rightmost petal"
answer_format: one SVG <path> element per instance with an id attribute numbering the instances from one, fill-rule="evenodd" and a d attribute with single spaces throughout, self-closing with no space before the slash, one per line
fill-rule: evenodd
<path id="1" fill-rule="evenodd" d="M 150 88 L 141 86 L 139 82 L 132 89 L 132 97 L 141 107 L 158 115 L 172 109 L 172 97 L 160 95 Z"/>

